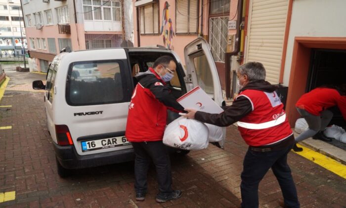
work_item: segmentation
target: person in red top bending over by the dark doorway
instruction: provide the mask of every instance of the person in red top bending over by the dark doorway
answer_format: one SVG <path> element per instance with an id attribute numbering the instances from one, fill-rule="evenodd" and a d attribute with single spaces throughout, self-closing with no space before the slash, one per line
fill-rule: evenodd
<path id="1" fill-rule="evenodd" d="M 309 129 L 302 132 L 296 138 L 296 142 L 301 142 L 309 137 L 331 142 L 332 138 L 325 136 L 323 131 L 333 118 L 333 113 L 328 108 L 335 105 L 339 107 L 346 120 L 346 84 L 339 87 L 326 85 L 303 94 L 296 107 L 299 114 L 306 120 Z M 301 152 L 303 148 L 295 144 L 293 150 Z"/>

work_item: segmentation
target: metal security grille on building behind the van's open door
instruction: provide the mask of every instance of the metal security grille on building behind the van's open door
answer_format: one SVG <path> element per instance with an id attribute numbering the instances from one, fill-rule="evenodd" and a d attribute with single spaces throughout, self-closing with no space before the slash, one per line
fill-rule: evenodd
<path id="1" fill-rule="evenodd" d="M 209 20 L 209 46 L 214 60 L 224 62 L 227 47 L 228 16 L 214 17 Z"/>

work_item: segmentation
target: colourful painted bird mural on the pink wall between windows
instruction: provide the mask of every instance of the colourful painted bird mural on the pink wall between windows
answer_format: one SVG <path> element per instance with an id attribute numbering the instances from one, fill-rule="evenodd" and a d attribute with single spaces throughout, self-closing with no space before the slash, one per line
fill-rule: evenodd
<path id="1" fill-rule="evenodd" d="M 164 10 L 162 11 L 162 25 L 160 29 L 160 35 L 162 35 L 164 45 L 167 49 L 172 49 L 173 36 L 175 36 L 173 31 L 173 22 L 169 18 L 169 7 L 170 4 L 166 1 L 164 3 Z"/>

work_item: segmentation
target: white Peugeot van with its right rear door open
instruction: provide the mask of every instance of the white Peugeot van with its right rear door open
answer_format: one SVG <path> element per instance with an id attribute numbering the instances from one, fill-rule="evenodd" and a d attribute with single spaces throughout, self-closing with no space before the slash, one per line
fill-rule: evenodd
<path id="1" fill-rule="evenodd" d="M 207 42 L 196 39 L 184 52 L 186 70 L 173 51 L 160 48 L 99 49 L 55 56 L 46 85 L 37 80 L 33 88 L 45 89 L 47 126 L 58 174 L 64 177 L 69 169 L 133 160 L 132 146 L 125 138 L 128 107 L 136 85 L 133 76 L 146 71 L 162 55 L 173 56 L 176 62 L 176 74 L 168 83 L 174 97 L 199 85 L 217 104 L 224 105 Z M 172 111 L 168 113 L 168 122 L 178 117 Z M 223 148 L 223 144 L 224 139 L 216 145 Z"/>

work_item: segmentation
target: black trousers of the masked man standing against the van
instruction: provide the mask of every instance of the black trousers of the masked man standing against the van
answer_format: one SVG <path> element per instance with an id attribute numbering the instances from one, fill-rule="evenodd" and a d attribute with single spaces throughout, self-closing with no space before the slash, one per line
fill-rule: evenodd
<path id="1" fill-rule="evenodd" d="M 134 189 L 136 193 L 147 192 L 147 174 L 150 161 L 154 162 L 157 181 L 159 184 L 159 196 L 167 196 L 173 192 L 171 161 L 162 141 L 156 142 L 132 142 L 135 153 L 134 160 Z"/>

